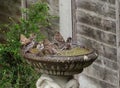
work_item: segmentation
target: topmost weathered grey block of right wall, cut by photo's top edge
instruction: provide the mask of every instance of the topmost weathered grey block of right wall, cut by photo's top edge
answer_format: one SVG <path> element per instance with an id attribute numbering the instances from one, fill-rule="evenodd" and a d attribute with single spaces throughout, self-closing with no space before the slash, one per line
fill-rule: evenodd
<path id="1" fill-rule="evenodd" d="M 115 18 L 115 8 L 107 3 L 101 3 L 97 0 L 77 0 L 77 8 L 83 8 L 89 11 L 93 11 L 97 14 Z"/>

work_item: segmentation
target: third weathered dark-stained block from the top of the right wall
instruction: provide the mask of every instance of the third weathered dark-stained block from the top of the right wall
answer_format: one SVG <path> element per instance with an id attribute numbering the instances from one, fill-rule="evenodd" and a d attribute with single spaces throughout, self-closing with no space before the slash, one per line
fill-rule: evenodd
<path id="1" fill-rule="evenodd" d="M 116 46 L 116 35 L 105 33 L 103 31 L 93 29 L 79 23 L 77 24 L 77 31 L 81 35 L 85 35 L 100 42 Z"/>

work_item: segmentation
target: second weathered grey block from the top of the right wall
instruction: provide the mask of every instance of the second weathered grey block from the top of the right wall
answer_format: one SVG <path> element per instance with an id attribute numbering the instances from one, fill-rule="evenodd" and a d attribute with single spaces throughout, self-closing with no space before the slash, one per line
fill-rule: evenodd
<path id="1" fill-rule="evenodd" d="M 77 22 L 82 22 L 101 30 L 116 32 L 116 22 L 108 19 L 102 19 L 101 17 L 94 16 L 93 14 L 86 13 L 81 10 L 76 11 Z"/>

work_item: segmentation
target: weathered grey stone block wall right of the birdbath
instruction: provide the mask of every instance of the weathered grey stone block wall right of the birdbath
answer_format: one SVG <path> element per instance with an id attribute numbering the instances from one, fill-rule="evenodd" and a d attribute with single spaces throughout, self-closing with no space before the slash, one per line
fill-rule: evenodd
<path id="1" fill-rule="evenodd" d="M 81 45 L 93 47 L 98 59 L 80 74 L 80 88 L 119 88 L 118 0 L 75 0 L 74 33 Z"/>

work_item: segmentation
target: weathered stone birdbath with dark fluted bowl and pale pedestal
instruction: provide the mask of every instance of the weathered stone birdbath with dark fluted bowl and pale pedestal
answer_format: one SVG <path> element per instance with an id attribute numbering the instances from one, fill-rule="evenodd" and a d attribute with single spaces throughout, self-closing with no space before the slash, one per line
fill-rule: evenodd
<path id="1" fill-rule="evenodd" d="M 36 82 L 37 88 L 79 88 L 75 74 L 81 73 L 98 57 L 94 49 L 76 56 L 47 55 L 43 57 L 31 53 L 23 54 L 29 64 L 42 75 Z"/>

